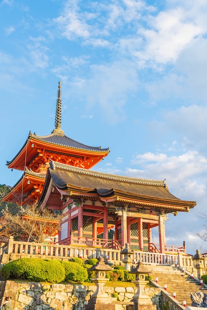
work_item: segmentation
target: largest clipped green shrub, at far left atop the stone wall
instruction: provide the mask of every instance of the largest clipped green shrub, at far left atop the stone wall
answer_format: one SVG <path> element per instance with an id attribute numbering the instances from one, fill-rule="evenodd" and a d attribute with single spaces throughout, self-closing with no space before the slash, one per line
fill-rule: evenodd
<path id="1" fill-rule="evenodd" d="M 59 283 L 65 278 L 65 270 L 59 260 L 19 258 L 5 264 L 0 275 L 3 280 L 26 279 L 30 282 Z"/>

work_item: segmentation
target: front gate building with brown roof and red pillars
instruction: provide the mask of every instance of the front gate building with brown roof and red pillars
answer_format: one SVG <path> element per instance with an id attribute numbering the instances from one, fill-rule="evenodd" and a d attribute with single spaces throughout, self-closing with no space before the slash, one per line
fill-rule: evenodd
<path id="1" fill-rule="evenodd" d="M 165 253 L 164 222 L 168 213 L 188 212 L 196 202 L 173 196 L 164 181 L 101 173 L 51 161 L 39 200 L 42 208 L 63 214 L 59 244 L 131 249 Z M 97 234 L 103 225 L 103 236 Z M 108 225 L 114 236 L 108 238 Z M 159 244 L 152 243 L 158 228 Z"/>

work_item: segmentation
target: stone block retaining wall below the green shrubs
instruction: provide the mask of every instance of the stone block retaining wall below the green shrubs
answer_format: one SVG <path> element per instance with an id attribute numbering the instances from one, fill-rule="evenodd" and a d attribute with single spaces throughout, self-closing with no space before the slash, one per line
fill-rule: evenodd
<path id="1" fill-rule="evenodd" d="M 83 310 L 96 286 L 0 282 L 0 304 L 2 298 L 10 296 L 14 310 Z M 135 287 L 104 287 L 112 303 L 125 310 L 135 294 Z M 147 288 L 146 293 L 153 298 L 159 294 L 157 288 Z M 158 306 L 158 300 L 156 301 Z"/>

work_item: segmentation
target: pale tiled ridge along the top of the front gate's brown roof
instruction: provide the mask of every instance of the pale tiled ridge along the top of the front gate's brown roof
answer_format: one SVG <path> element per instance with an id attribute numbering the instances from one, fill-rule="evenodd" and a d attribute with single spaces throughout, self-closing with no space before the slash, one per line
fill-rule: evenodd
<path id="1" fill-rule="evenodd" d="M 51 166 L 52 170 L 55 170 L 56 168 L 58 168 L 58 169 L 70 170 L 70 171 L 74 171 L 74 172 L 80 172 L 82 174 L 107 178 L 107 179 L 111 179 L 111 180 L 125 181 L 125 182 L 127 181 L 130 183 L 147 184 L 147 185 L 156 185 L 156 186 L 166 187 L 165 180 L 161 181 L 161 180 L 132 178 L 132 177 L 128 177 L 128 176 L 121 176 L 121 175 L 116 175 L 116 174 L 110 174 L 110 173 L 105 173 L 105 172 L 88 170 L 85 168 L 79 168 L 79 167 L 67 165 L 64 163 L 56 162 L 53 160 L 50 161 L 50 166 Z"/>

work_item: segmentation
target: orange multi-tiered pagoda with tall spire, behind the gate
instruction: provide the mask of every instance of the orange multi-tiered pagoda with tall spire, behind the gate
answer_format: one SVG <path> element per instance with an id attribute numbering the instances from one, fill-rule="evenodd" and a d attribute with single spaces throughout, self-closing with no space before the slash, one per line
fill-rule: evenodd
<path id="1" fill-rule="evenodd" d="M 109 149 L 91 147 L 67 137 L 61 130 L 60 82 L 56 102 L 55 128 L 50 135 L 29 133 L 21 150 L 10 161 L 8 168 L 24 171 L 3 201 L 19 205 L 37 202 L 41 196 L 49 161 L 90 169 L 109 153 Z"/>

